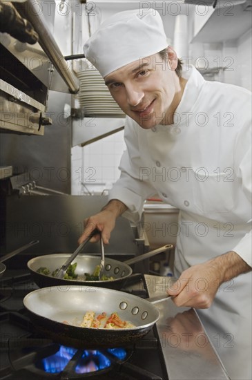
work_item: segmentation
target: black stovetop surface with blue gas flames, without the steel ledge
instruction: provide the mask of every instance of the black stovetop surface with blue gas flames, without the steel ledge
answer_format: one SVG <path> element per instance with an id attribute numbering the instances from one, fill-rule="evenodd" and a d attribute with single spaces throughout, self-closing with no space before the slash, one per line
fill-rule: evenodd
<path id="1" fill-rule="evenodd" d="M 124 287 L 122 291 L 148 297 L 142 275 Z M 35 289 L 25 270 L 6 271 L 1 278 L 0 379 L 168 379 L 155 326 L 124 348 L 112 344 L 110 350 L 77 350 L 59 345 L 37 332 L 23 307 L 23 297 Z"/>

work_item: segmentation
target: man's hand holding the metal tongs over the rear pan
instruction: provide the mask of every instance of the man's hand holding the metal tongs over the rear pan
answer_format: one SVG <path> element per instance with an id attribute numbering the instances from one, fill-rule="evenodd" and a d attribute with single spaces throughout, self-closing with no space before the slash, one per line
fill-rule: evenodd
<path id="1" fill-rule="evenodd" d="M 108 202 L 108 204 L 101 209 L 99 213 L 84 220 L 84 231 L 78 240 L 81 244 L 96 228 L 101 232 L 101 238 L 104 244 L 109 243 L 111 231 L 115 228 L 115 221 L 118 216 L 120 216 L 127 207 L 120 200 L 113 199 Z M 97 234 L 90 239 L 91 243 L 95 243 L 99 240 L 100 235 Z"/>

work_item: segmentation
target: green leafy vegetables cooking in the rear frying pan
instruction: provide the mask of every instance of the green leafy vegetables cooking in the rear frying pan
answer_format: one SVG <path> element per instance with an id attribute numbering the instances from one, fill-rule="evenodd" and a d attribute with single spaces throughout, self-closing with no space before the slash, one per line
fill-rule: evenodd
<path id="1" fill-rule="evenodd" d="M 77 267 L 77 263 L 69 265 L 66 271 L 66 274 L 64 275 L 64 280 L 99 281 L 99 271 L 101 270 L 99 265 L 95 267 L 95 270 L 92 274 L 85 273 L 84 275 L 81 275 L 81 276 L 75 273 L 76 267 Z M 55 271 L 51 273 L 47 267 L 39 267 L 39 269 L 37 269 L 37 272 L 40 274 L 45 274 L 46 276 L 55 276 L 55 274 L 57 273 L 57 270 L 58 269 L 55 269 Z M 114 279 L 115 277 L 106 276 L 106 274 L 103 274 L 101 276 L 101 281 L 109 281 L 109 280 L 114 280 Z"/>

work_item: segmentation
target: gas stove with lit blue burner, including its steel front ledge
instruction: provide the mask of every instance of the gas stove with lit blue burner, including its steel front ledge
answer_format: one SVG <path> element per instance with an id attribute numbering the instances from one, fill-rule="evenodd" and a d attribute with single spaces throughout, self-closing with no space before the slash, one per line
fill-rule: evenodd
<path id="1" fill-rule="evenodd" d="M 122 291 L 142 298 L 159 296 L 167 281 L 171 279 L 139 274 L 129 278 Z M 26 270 L 7 270 L 1 278 L 1 379 L 229 379 L 195 311 L 177 309 L 171 299 L 155 303 L 161 317 L 136 343 L 78 350 L 41 336 L 32 325 L 23 297 L 35 289 Z M 180 331 L 183 318 L 191 330 Z"/>

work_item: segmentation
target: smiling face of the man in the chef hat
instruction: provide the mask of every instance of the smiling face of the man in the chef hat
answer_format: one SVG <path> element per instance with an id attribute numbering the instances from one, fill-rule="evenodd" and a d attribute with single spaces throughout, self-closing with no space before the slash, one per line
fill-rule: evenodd
<path id="1" fill-rule="evenodd" d="M 177 59 L 164 61 L 157 53 L 134 61 L 105 77 L 108 89 L 126 115 L 143 129 L 171 124 L 180 102 Z"/>

